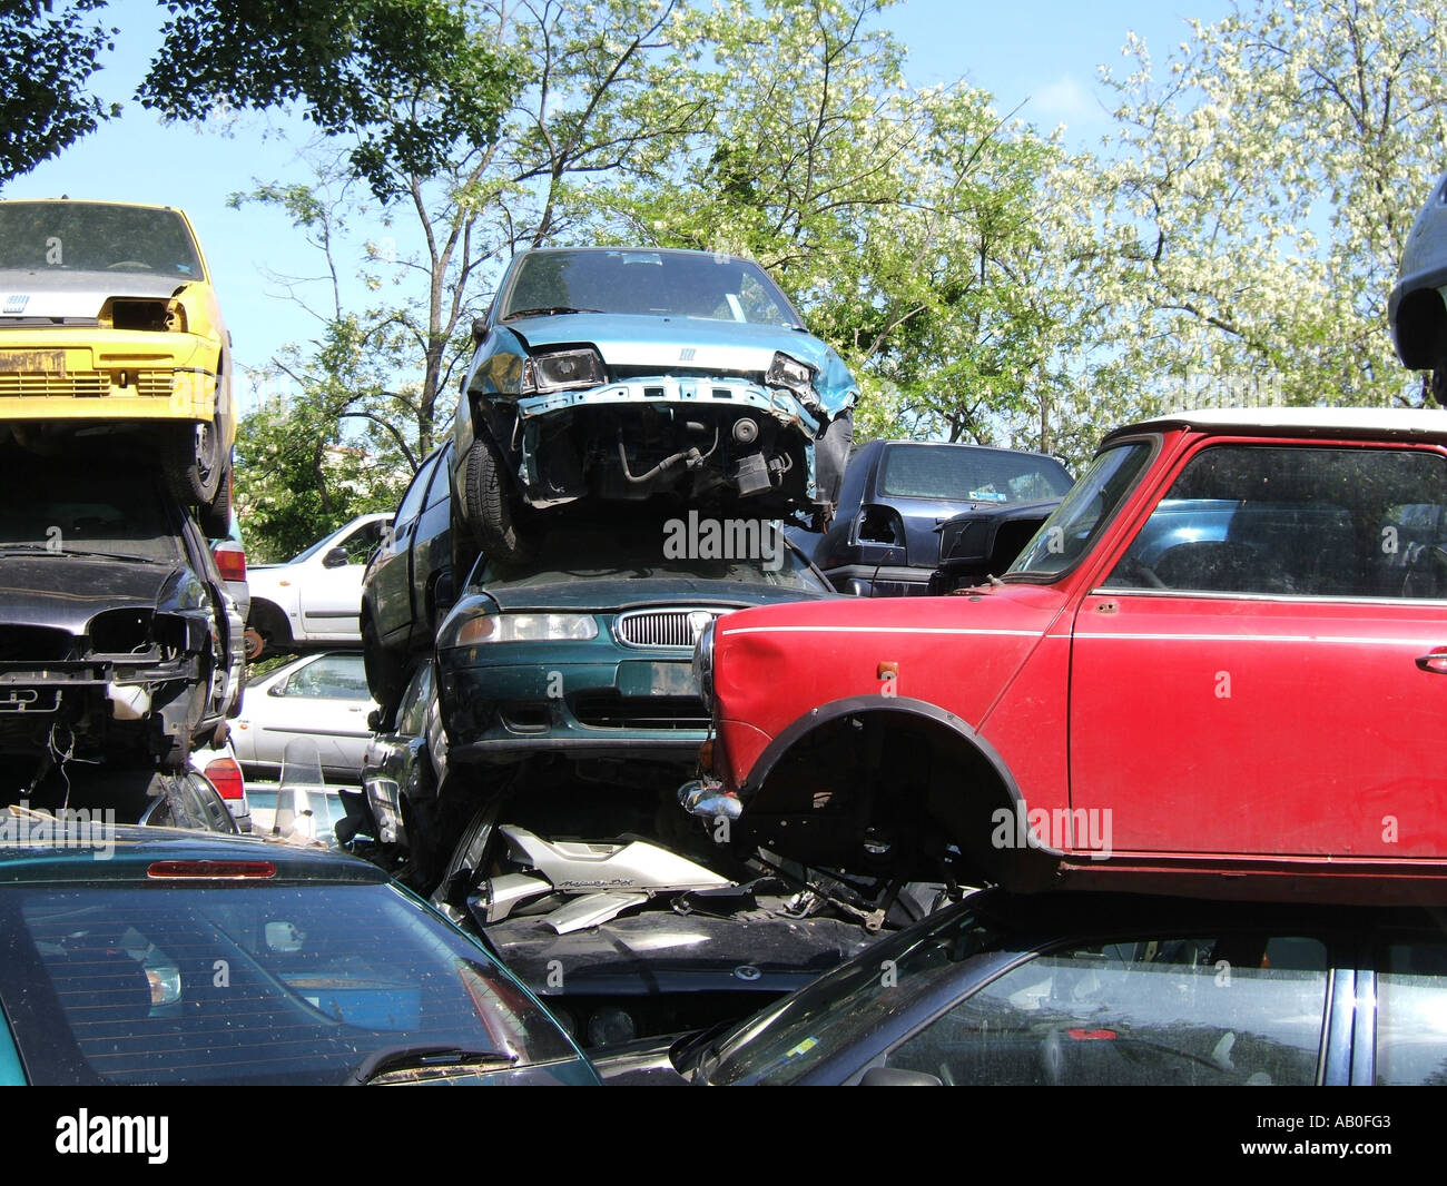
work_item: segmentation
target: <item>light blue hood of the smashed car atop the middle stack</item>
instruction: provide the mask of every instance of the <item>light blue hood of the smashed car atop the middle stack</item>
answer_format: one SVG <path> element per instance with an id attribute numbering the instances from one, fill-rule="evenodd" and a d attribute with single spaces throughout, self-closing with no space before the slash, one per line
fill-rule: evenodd
<path id="1" fill-rule="evenodd" d="M 823 373 L 838 359 L 833 350 L 805 330 L 706 317 L 577 312 L 518 318 L 504 328 L 532 350 L 587 341 L 598 347 L 609 367 L 650 367 L 658 373 L 683 367 L 761 376 L 776 351 Z"/>

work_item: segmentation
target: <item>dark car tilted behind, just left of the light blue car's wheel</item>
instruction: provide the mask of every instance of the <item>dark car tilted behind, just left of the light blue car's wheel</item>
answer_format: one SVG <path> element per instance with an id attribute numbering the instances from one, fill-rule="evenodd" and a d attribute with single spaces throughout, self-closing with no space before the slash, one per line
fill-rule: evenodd
<path id="1" fill-rule="evenodd" d="M 451 441 L 417 469 L 362 577 L 362 652 L 372 697 L 389 717 L 417 655 L 433 647 L 437 622 L 454 599 Z"/>

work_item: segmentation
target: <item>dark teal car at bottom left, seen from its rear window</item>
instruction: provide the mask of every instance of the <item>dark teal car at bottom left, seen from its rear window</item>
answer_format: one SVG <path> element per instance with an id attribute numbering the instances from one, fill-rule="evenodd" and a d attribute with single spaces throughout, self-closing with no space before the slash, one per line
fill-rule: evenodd
<path id="1" fill-rule="evenodd" d="M 0 820 L 0 1085 L 573 1083 L 475 940 L 363 861 Z"/>

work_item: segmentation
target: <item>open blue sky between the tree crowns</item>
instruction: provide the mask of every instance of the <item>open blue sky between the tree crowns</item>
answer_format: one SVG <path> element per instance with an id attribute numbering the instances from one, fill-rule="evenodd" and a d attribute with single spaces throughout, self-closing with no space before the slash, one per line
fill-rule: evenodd
<path id="1" fill-rule="evenodd" d="M 904 0 L 886 26 L 909 46 L 915 85 L 964 78 L 996 95 L 1001 111 L 1023 103 L 1020 117 L 1042 129 L 1065 124 L 1072 145 L 1094 146 L 1108 129 L 1098 67 L 1120 69 L 1129 30 L 1145 38 L 1159 62 L 1187 36 L 1189 16 L 1214 20 L 1226 0 Z M 126 100 L 156 42 L 161 10 L 149 0 L 111 0 L 117 54 L 97 78 L 106 98 Z M 294 124 L 294 127 L 297 127 Z M 285 299 L 271 273 L 315 275 L 320 259 L 288 220 L 227 197 L 256 181 L 305 181 L 297 145 L 265 135 L 260 119 L 214 126 L 165 127 L 129 103 L 55 161 L 12 182 L 3 197 L 111 198 L 179 205 L 197 226 L 216 276 L 239 367 L 262 367 L 288 341 L 311 337 L 314 323 Z M 375 236 L 388 231 L 375 229 Z M 243 406 L 246 406 L 243 393 Z"/>

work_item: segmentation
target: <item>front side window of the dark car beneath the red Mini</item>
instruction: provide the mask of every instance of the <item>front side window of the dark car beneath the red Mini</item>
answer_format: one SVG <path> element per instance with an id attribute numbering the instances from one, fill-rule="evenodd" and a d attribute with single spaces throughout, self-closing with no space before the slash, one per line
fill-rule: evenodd
<path id="1" fill-rule="evenodd" d="M 1226 934 L 1084 943 L 996 978 L 890 1051 L 945 1083 L 1314 1083 L 1327 950 Z"/>

